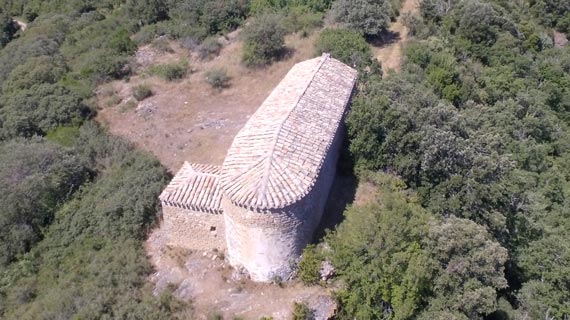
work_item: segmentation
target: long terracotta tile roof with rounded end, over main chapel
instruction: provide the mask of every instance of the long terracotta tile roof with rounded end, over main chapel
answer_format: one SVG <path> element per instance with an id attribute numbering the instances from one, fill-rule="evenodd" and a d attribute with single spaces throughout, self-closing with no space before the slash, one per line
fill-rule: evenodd
<path id="1" fill-rule="evenodd" d="M 234 204 L 282 208 L 311 191 L 356 76 L 356 70 L 326 54 L 289 71 L 228 151 L 221 185 Z"/>

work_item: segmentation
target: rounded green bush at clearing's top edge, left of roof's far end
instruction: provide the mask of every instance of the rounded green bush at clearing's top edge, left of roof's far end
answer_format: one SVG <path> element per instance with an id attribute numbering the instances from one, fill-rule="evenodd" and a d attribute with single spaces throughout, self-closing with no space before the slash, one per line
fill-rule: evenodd
<path id="1" fill-rule="evenodd" d="M 246 66 L 262 67 L 283 54 L 286 30 L 282 21 L 280 15 L 264 14 L 243 30 L 242 61 Z"/>

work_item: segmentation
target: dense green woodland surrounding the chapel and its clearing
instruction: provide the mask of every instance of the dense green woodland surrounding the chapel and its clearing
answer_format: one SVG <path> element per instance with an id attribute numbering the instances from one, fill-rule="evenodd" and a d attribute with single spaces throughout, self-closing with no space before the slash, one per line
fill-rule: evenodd
<path id="1" fill-rule="evenodd" d="M 0 0 L 0 318 L 191 318 L 147 281 L 170 176 L 94 123 L 94 90 L 157 37 L 210 55 L 249 21 L 243 63 L 263 68 L 325 20 L 315 55 L 360 71 L 343 170 L 377 194 L 306 250 L 300 278 L 330 260 L 341 319 L 570 317 L 570 46 L 553 41 L 570 3 L 419 1 L 402 71 L 383 78 L 369 44 L 399 6 Z"/>

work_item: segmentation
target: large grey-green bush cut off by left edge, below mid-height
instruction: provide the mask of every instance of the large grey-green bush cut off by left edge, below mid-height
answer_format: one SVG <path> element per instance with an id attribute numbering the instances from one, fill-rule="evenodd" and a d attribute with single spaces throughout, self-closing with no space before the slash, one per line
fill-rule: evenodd
<path id="1" fill-rule="evenodd" d="M 55 144 L 34 139 L 0 145 L 0 267 L 42 238 L 85 178 L 80 159 Z"/>

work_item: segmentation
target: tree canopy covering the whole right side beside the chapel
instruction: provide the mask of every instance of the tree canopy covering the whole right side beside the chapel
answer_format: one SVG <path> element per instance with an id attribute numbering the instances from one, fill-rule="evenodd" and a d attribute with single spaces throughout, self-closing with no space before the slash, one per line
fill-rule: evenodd
<path id="1" fill-rule="evenodd" d="M 360 73 L 349 149 L 377 195 L 313 254 L 338 268 L 341 318 L 570 316 L 564 6 L 423 0 L 402 71 Z M 353 33 L 370 34 L 359 20 Z M 366 38 L 341 45 L 349 33 L 319 41 L 350 62 Z"/>

